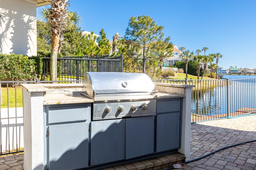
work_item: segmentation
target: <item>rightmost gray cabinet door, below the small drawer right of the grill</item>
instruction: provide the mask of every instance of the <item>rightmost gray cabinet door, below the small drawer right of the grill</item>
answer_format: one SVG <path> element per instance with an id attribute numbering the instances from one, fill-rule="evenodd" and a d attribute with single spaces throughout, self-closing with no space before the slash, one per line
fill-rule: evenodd
<path id="1" fill-rule="evenodd" d="M 156 152 L 179 148 L 180 113 L 156 116 Z"/>

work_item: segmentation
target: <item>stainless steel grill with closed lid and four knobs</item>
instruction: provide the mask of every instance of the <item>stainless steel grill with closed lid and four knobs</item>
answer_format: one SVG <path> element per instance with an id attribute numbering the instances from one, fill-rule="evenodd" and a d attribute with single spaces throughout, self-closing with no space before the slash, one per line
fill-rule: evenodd
<path id="1" fill-rule="evenodd" d="M 82 95 L 94 99 L 92 120 L 156 114 L 157 91 L 144 73 L 86 72 Z"/>

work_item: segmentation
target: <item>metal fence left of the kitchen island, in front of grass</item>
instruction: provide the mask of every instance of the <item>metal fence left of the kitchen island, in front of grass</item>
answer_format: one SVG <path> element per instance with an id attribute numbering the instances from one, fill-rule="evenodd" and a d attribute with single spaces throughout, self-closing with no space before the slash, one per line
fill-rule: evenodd
<path id="1" fill-rule="evenodd" d="M 81 83 L 82 80 L 0 81 L 0 155 L 23 152 L 23 90 L 20 84 Z"/>

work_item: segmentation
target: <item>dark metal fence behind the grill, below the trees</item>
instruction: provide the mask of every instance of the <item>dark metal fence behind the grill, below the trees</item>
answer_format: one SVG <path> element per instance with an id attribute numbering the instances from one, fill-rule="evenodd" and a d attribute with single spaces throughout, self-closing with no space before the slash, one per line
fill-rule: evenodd
<path id="1" fill-rule="evenodd" d="M 44 57 L 40 80 L 50 80 L 50 58 Z M 74 56 L 57 59 L 59 80 L 81 80 L 84 72 L 122 72 L 123 56 Z"/>

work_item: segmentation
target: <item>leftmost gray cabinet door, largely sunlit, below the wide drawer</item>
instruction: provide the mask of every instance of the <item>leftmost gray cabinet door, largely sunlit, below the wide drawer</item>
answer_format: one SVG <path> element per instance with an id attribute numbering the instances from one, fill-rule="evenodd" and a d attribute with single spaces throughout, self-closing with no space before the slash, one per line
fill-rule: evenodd
<path id="1" fill-rule="evenodd" d="M 71 170 L 88 166 L 88 123 L 49 126 L 49 170 Z"/>

